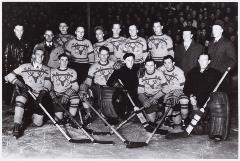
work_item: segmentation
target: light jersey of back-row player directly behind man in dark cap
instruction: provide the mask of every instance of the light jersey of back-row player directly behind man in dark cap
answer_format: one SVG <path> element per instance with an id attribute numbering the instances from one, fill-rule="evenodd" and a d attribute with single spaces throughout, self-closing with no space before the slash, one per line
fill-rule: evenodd
<path id="1" fill-rule="evenodd" d="M 147 43 L 142 37 L 136 39 L 128 38 L 125 42 L 124 53 L 133 53 L 135 55 L 135 63 L 143 63 L 147 57 Z"/>

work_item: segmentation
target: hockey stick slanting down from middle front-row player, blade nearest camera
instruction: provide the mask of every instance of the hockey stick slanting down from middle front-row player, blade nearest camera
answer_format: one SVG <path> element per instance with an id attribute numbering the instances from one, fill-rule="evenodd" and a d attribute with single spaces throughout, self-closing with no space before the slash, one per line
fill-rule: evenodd
<path id="1" fill-rule="evenodd" d="M 87 101 L 85 100 L 85 102 L 97 115 L 98 117 L 117 135 L 117 137 L 124 143 L 126 144 L 126 148 L 139 148 L 139 147 L 143 147 L 146 146 L 147 144 L 145 142 L 132 142 L 132 141 L 128 141 L 127 139 L 125 139 L 123 136 L 121 136 L 104 118 L 103 116 L 97 112 L 97 110 Z"/>

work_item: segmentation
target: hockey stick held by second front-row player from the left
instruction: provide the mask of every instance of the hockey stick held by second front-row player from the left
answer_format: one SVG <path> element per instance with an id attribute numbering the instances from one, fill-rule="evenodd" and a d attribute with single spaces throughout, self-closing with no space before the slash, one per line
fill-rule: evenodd
<path id="1" fill-rule="evenodd" d="M 57 102 L 57 105 L 64 110 L 64 112 L 69 116 L 69 118 L 72 120 L 72 122 L 78 126 L 79 129 L 81 129 L 83 131 L 83 133 L 92 141 L 92 143 L 98 143 L 98 144 L 114 144 L 113 141 L 100 141 L 100 140 L 96 140 L 94 139 L 91 135 L 88 134 L 87 131 L 93 131 L 91 129 L 86 129 L 86 128 L 83 128 L 71 115 L 71 113 L 66 110 L 63 105 L 59 102 Z"/>

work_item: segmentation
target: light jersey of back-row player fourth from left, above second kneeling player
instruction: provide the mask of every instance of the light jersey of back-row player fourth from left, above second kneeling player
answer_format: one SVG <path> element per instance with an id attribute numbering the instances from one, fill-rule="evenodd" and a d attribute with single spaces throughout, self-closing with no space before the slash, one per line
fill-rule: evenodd
<path id="1" fill-rule="evenodd" d="M 76 63 L 89 63 L 89 55 L 93 54 L 92 43 L 87 39 L 69 40 L 65 45 L 65 50 L 71 61 Z"/>

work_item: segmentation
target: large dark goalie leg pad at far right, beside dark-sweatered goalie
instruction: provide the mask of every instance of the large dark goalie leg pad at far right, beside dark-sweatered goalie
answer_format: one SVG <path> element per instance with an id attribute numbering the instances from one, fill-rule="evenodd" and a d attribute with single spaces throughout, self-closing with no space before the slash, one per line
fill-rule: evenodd
<path id="1" fill-rule="evenodd" d="M 209 138 L 219 137 L 226 140 L 229 135 L 229 100 L 224 92 L 215 92 L 210 96 Z"/>

